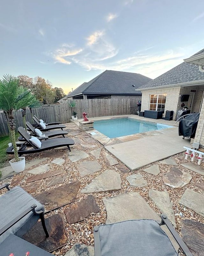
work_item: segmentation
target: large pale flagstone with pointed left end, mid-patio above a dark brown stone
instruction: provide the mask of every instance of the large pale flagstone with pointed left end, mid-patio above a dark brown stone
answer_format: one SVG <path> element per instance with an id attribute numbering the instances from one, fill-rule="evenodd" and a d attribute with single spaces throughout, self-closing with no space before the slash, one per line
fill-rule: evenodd
<path id="1" fill-rule="evenodd" d="M 120 174 L 114 171 L 106 170 L 96 177 L 90 184 L 81 190 L 81 193 L 93 193 L 109 190 L 121 189 Z"/>

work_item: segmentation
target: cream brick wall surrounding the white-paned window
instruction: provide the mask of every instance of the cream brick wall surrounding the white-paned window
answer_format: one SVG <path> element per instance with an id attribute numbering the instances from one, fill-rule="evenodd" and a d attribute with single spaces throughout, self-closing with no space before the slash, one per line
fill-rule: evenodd
<path id="1" fill-rule="evenodd" d="M 173 120 L 176 117 L 178 108 L 178 100 L 180 95 L 180 87 L 164 88 L 164 89 L 151 89 L 142 91 L 142 108 L 141 111 L 149 110 L 149 97 L 150 94 L 166 93 L 166 105 L 164 109 L 164 116 L 166 110 L 173 110 Z"/>

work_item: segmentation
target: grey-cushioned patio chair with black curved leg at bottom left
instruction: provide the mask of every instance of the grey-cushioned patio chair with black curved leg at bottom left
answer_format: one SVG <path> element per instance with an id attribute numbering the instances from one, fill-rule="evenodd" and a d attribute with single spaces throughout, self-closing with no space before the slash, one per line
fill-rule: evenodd
<path id="1" fill-rule="evenodd" d="M 31 255 L 51 256 L 39 247 L 22 239 L 34 224 L 41 219 L 45 238 L 49 237 L 44 219 L 44 206 L 24 189 L 16 186 L 10 190 L 9 184 L 0 186 L 7 192 L 0 197 L 0 256 Z"/>

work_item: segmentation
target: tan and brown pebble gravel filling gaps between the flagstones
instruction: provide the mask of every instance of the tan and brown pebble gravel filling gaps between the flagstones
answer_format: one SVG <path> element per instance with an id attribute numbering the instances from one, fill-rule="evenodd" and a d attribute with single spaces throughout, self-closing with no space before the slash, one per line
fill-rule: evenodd
<path id="1" fill-rule="evenodd" d="M 68 123 L 68 124 L 66 124 L 66 126 L 67 126 L 67 129 L 69 129 L 69 131 L 72 130 L 72 128 L 74 128 L 74 130 L 76 130 L 76 127 L 73 126 L 72 123 Z M 82 133 L 80 135 L 77 135 L 75 137 L 83 140 L 82 136 L 84 136 L 84 135 L 87 135 L 87 134 L 84 131 L 82 131 Z M 68 134 L 68 137 L 69 137 L 69 134 Z M 73 139 L 74 139 L 74 137 L 73 137 Z M 86 142 L 84 142 L 84 143 L 86 143 Z M 88 143 L 88 144 L 91 144 L 91 143 Z M 104 224 L 106 222 L 106 209 L 105 209 L 105 206 L 102 202 L 102 198 L 103 197 L 113 197 L 113 196 L 116 196 L 116 195 L 119 195 L 119 194 L 122 194 L 122 193 L 127 193 L 127 192 L 130 192 L 130 191 L 139 192 L 140 195 L 151 206 L 151 208 L 154 209 L 155 212 L 158 213 L 158 214 L 160 214 L 161 211 L 157 208 L 157 206 L 154 204 L 154 202 L 149 198 L 148 191 L 151 188 L 155 189 L 155 190 L 160 190 L 160 191 L 168 191 L 169 195 L 170 195 L 172 205 L 173 205 L 174 214 L 175 214 L 175 219 L 176 219 L 176 224 L 177 224 L 176 230 L 179 233 L 181 231 L 181 220 L 185 217 L 190 218 L 192 220 L 200 221 L 202 223 L 204 222 L 204 218 L 202 216 L 200 216 L 199 214 L 193 212 L 192 210 L 190 210 L 188 208 L 185 208 L 182 205 L 179 205 L 179 200 L 180 200 L 181 196 L 183 195 L 183 193 L 185 192 L 185 190 L 187 188 L 192 189 L 193 191 L 199 192 L 200 194 L 204 194 L 203 190 L 200 190 L 199 188 L 197 188 L 193 185 L 193 182 L 203 183 L 203 176 L 200 175 L 200 174 L 197 174 L 195 172 L 192 172 L 192 171 L 190 171 L 190 170 L 188 170 L 188 169 L 186 169 L 186 168 L 184 168 L 180 165 L 181 163 L 190 162 L 190 158 L 188 160 L 185 160 L 184 152 L 179 153 L 177 155 L 174 155 L 174 156 L 172 156 L 172 158 L 177 162 L 178 168 L 180 170 L 183 170 L 183 171 L 192 175 L 192 180 L 189 184 L 187 184 L 183 188 L 173 189 L 173 188 L 165 185 L 163 180 L 162 180 L 163 175 L 166 174 L 166 172 L 172 166 L 164 165 L 164 164 L 161 164 L 159 162 L 153 163 L 153 164 L 158 164 L 159 167 L 160 167 L 160 170 L 161 170 L 161 172 L 157 176 L 148 174 L 148 173 L 143 171 L 143 169 L 145 169 L 145 168 L 147 168 L 147 167 L 149 167 L 153 164 L 142 167 L 142 168 L 140 168 L 140 169 L 138 169 L 134 172 L 123 174 L 123 173 L 121 173 L 120 171 L 118 171 L 116 169 L 116 166 L 112 166 L 112 167 L 107 167 L 106 166 L 105 159 L 104 159 L 104 153 L 105 152 L 109 153 L 109 152 L 106 151 L 106 149 L 99 142 L 96 141 L 95 143 L 92 143 L 92 144 L 96 145 L 96 147 L 94 147 L 94 148 L 85 148 L 85 147 L 82 147 L 80 144 L 75 144 L 75 145 L 71 146 L 71 149 L 83 150 L 83 151 L 85 151 L 86 153 L 89 154 L 88 158 L 83 159 L 83 160 L 79 160 L 75 163 L 71 162 L 69 160 L 69 158 L 67 157 L 67 154 L 68 154 L 67 149 L 58 149 L 58 150 L 56 150 L 56 151 L 60 151 L 62 153 L 61 158 L 64 158 L 66 161 L 62 166 L 53 164 L 53 166 L 51 167 L 51 169 L 49 171 L 60 170 L 62 174 L 67 174 L 68 180 L 66 182 L 62 182 L 62 184 L 60 184 L 60 185 L 55 185 L 55 186 L 52 186 L 52 187 L 49 187 L 49 188 L 46 188 L 46 181 L 43 180 L 41 185 L 36 190 L 36 194 L 38 194 L 42 191 L 58 187 L 58 186 L 67 184 L 69 182 L 73 182 L 73 181 L 77 181 L 77 180 L 79 180 L 81 182 L 80 189 L 78 190 L 78 193 L 77 193 L 77 199 L 74 203 L 71 203 L 67 206 L 63 206 L 59 209 L 53 210 L 53 211 L 45 214 L 45 217 L 48 217 L 48 216 L 51 216 L 51 215 L 56 214 L 56 213 L 62 213 L 62 215 L 64 217 L 64 222 L 65 222 L 65 225 L 66 225 L 67 233 L 68 233 L 67 245 L 62 247 L 61 249 L 53 252 L 53 254 L 55 254 L 55 255 L 64 255 L 72 247 L 72 245 L 75 244 L 75 243 L 83 243 L 83 244 L 87 244 L 87 245 L 94 245 L 93 227 L 95 225 Z M 96 158 L 93 157 L 89 152 L 94 150 L 94 149 L 98 149 L 98 148 L 101 148 L 101 154 L 100 154 L 100 157 L 98 159 L 99 164 L 102 166 L 101 170 L 96 172 L 96 173 L 93 173 L 91 175 L 87 175 L 87 176 L 81 178 L 78 171 L 77 171 L 77 165 L 82 161 L 96 160 Z M 39 153 L 39 154 L 35 154 L 35 155 L 26 155 L 26 161 L 31 160 L 33 158 L 43 158 L 44 157 L 43 155 L 44 155 L 43 152 Z M 46 161 L 44 161 L 41 164 L 51 162 L 55 158 L 48 158 Z M 119 161 L 119 163 L 122 164 L 120 161 Z M 39 165 L 41 165 L 41 164 L 39 164 Z M 195 161 L 194 164 L 197 164 L 197 161 Z M 33 169 L 34 167 L 36 167 L 36 166 L 33 166 L 30 169 Z M 203 162 L 201 162 L 201 167 L 204 167 Z M 80 222 L 75 223 L 75 224 L 70 224 L 66 220 L 66 216 L 64 214 L 64 209 L 69 208 L 70 206 L 74 205 L 75 203 L 81 201 L 82 198 L 86 197 L 87 194 L 82 194 L 80 192 L 81 189 L 84 188 L 95 177 L 97 177 L 99 174 L 103 173 L 107 169 L 114 170 L 114 171 L 120 173 L 120 177 L 121 177 L 121 180 L 122 180 L 121 189 L 118 190 L 118 191 L 91 193 L 97 201 L 100 212 L 96 213 L 96 214 L 93 214 L 93 215 L 90 215 L 84 221 L 80 221 Z M 22 182 L 20 183 L 20 185 L 22 187 L 24 187 L 24 184 L 25 184 L 25 181 L 26 181 L 27 177 L 33 176 L 32 174 L 27 173 L 28 170 L 29 169 L 27 169 L 26 171 L 24 171 L 20 174 L 20 175 L 25 175 L 25 179 L 22 180 Z M 141 174 L 143 176 L 143 178 L 145 180 L 147 180 L 148 185 L 144 188 L 131 187 L 129 185 L 128 181 L 126 180 L 126 177 L 128 175 L 132 175 L 132 174 Z M 8 178 L 8 179 L 4 180 L 3 182 L 0 182 L 0 185 L 2 185 L 5 182 L 11 182 L 11 181 L 12 181 L 12 178 Z M 1 191 L 1 193 L 4 193 L 4 192 L 5 191 Z M 182 213 L 182 216 L 181 216 L 180 213 Z M 180 254 L 180 255 L 182 255 L 182 254 Z"/>

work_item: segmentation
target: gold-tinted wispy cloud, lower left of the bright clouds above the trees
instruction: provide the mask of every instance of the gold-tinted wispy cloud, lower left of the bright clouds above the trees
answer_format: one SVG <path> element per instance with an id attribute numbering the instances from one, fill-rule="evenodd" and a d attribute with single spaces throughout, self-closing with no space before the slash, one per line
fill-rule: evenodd
<path id="1" fill-rule="evenodd" d="M 69 45 L 65 45 L 66 44 L 62 44 L 60 48 L 51 53 L 51 56 L 55 59 L 55 63 L 71 64 L 69 57 L 77 55 L 79 52 L 83 51 L 83 49 L 72 50 Z"/>

